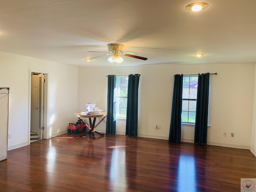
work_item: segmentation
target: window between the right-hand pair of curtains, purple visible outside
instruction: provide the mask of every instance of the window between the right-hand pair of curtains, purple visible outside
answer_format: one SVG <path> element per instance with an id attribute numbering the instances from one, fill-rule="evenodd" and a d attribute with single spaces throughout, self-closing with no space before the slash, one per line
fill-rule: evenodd
<path id="1" fill-rule="evenodd" d="M 181 122 L 196 122 L 197 76 L 183 77 Z"/>

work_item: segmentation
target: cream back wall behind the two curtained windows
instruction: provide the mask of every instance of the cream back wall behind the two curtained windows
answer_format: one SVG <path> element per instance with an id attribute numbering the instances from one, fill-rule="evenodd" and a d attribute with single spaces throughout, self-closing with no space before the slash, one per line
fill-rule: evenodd
<path id="1" fill-rule="evenodd" d="M 217 72 L 211 76 L 210 125 L 208 144 L 250 148 L 254 64 L 190 64 L 137 67 L 80 67 L 80 111 L 86 102 L 107 109 L 108 74 L 141 74 L 139 83 L 138 136 L 168 139 L 174 74 Z M 155 125 L 161 127 L 156 130 Z M 98 131 L 105 131 L 102 124 Z M 227 132 L 227 136 L 223 136 Z M 235 137 L 231 137 L 231 132 Z M 125 133 L 125 122 L 117 122 L 117 133 Z M 194 142 L 194 127 L 182 127 L 182 140 Z"/>

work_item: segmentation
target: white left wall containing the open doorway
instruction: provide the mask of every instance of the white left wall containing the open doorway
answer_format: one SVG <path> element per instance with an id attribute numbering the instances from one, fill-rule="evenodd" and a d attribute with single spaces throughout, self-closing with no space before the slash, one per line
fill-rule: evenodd
<path id="1" fill-rule="evenodd" d="M 78 67 L 0 51 L 0 86 L 10 87 L 8 150 L 29 144 L 29 70 L 48 73 L 47 138 L 67 132 L 78 110 Z"/>

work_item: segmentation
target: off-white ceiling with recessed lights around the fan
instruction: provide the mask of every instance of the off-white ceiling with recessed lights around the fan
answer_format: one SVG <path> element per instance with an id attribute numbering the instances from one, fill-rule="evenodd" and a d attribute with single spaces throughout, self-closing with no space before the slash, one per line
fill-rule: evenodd
<path id="1" fill-rule="evenodd" d="M 108 43 L 148 60 L 122 66 L 256 62 L 256 0 L 0 0 L 0 50 L 76 66 L 113 66 Z M 202 58 L 194 54 L 202 53 Z"/>

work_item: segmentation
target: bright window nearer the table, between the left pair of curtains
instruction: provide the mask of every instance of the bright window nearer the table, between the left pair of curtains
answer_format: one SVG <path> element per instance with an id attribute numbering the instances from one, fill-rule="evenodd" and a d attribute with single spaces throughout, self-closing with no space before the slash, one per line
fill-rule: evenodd
<path id="1" fill-rule="evenodd" d="M 116 77 L 116 117 L 126 118 L 128 76 Z"/>

